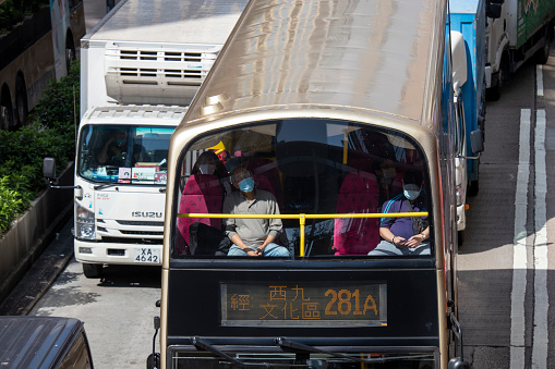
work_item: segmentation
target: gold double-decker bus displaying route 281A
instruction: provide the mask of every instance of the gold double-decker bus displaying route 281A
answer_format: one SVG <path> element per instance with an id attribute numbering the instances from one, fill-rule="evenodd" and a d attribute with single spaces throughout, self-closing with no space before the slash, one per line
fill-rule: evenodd
<path id="1" fill-rule="evenodd" d="M 152 365 L 467 367 L 447 17 L 442 0 L 248 4 L 170 140 Z M 237 185 L 197 170 L 209 151 L 279 212 L 226 212 Z M 408 173 L 421 205 L 402 211 Z M 279 219 L 289 257 L 228 256 L 240 219 Z M 425 224 L 411 247 L 381 233 L 397 221 Z"/>

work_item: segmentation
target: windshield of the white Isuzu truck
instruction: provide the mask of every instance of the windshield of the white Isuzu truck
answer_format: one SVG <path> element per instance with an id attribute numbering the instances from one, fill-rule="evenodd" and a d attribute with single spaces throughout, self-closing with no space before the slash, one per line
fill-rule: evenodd
<path id="1" fill-rule="evenodd" d="M 97 183 L 166 185 L 174 127 L 86 125 L 77 144 L 77 173 Z"/>

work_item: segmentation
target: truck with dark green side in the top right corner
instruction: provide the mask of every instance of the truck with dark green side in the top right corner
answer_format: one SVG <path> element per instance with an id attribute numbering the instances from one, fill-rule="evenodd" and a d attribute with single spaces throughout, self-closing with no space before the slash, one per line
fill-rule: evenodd
<path id="1" fill-rule="evenodd" d="M 526 61 L 535 57 L 541 64 L 547 62 L 553 40 L 555 1 L 487 1 L 488 7 L 498 12 L 488 15 L 485 38 L 487 97 L 497 100 L 503 84 Z"/>

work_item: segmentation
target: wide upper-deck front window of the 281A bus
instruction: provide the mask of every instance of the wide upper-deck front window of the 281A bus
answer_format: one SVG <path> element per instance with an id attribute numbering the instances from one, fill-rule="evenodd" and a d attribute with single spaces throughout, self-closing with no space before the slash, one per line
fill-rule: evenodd
<path id="1" fill-rule="evenodd" d="M 258 256 L 433 255 L 425 156 L 400 132 L 323 119 L 272 121 L 198 137 L 179 170 L 176 258 L 254 256 L 242 251 L 256 250 L 268 235 L 279 248 Z"/>

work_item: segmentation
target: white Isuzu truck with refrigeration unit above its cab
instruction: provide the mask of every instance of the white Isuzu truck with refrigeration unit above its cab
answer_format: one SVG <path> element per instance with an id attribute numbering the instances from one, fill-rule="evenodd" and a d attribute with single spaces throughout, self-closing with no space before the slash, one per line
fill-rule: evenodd
<path id="1" fill-rule="evenodd" d="M 74 250 L 87 278 L 161 265 L 169 139 L 246 2 L 122 0 L 82 38 Z"/>

